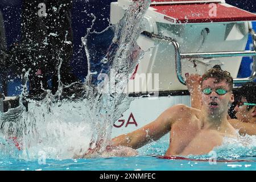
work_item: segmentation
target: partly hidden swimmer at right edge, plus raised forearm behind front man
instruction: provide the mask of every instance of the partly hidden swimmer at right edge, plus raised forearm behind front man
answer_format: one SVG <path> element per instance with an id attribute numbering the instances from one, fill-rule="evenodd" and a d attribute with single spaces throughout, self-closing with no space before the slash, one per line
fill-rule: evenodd
<path id="1" fill-rule="evenodd" d="M 220 69 L 220 68 L 218 68 Z M 201 76 L 189 75 L 186 80 L 189 93 L 191 95 L 191 106 L 200 109 L 201 108 Z M 247 82 L 238 90 L 238 102 L 234 111 L 236 111 L 237 119 L 229 119 L 229 123 L 237 130 L 241 135 L 249 134 L 255 135 L 256 130 L 256 83 Z"/>

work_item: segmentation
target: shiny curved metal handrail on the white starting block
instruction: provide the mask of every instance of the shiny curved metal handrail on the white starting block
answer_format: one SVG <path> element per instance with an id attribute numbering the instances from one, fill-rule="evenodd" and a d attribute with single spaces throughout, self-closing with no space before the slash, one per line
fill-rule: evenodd
<path id="1" fill-rule="evenodd" d="M 234 57 L 234 56 L 253 56 L 253 72 L 247 78 L 234 78 L 234 84 L 240 84 L 247 81 L 253 81 L 256 78 L 256 34 L 250 30 L 254 40 L 254 51 L 226 51 L 226 52 L 200 52 L 200 53 L 180 53 L 179 43 L 173 38 L 152 34 L 151 32 L 143 31 L 142 34 L 150 38 L 162 39 L 171 42 L 175 48 L 175 64 L 176 74 L 181 84 L 186 85 L 184 78 L 181 76 L 181 59 L 184 58 L 210 58 L 210 57 Z"/>

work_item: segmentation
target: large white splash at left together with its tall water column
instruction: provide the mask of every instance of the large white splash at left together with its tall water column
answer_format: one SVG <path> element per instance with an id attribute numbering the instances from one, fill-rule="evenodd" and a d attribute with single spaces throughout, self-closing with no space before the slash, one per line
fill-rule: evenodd
<path id="1" fill-rule="evenodd" d="M 96 149 L 95 152 L 104 151 L 110 141 L 113 122 L 128 109 L 131 102 L 123 91 L 129 80 L 127 75 L 133 72 L 143 53 L 136 40 L 149 5 L 149 0 L 133 2 L 120 22 L 107 28 L 114 30 L 114 38 L 105 57 L 96 61 L 107 66 L 104 74 L 114 80 L 113 85 L 106 77 L 97 84 L 94 82 L 97 75 L 90 67 L 94 60 L 91 59 L 93 55 L 88 49 L 87 38 L 100 33 L 90 32 L 89 28 L 82 38 L 89 68 L 80 90 L 82 97 L 61 100 L 63 88 L 71 85 L 62 85 L 60 77 L 58 92 L 52 95 L 46 90 L 46 97 L 41 101 L 26 98 L 24 88 L 20 103 L 28 101 L 28 111 L 20 105 L 0 115 L 1 151 L 22 159 L 36 159 L 42 152 L 46 158 L 73 158 L 85 154 L 89 147 Z M 101 81 L 114 88 L 105 92 L 101 89 Z"/>

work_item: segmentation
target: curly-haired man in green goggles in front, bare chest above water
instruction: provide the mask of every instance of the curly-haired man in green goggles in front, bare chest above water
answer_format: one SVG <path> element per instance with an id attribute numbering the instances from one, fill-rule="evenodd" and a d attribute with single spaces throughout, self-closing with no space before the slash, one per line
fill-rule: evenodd
<path id="1" fill-rule="evenodd" d="M 212 68 L 201 80 L 201 110 L 182 104 L 171 106 L 141 129 L 113 138 L 112 146 L 137 149 L 170 132 L 165 156 L 203 155 L 221 146 L 224 137 L 237 138 L 226 117 L 228 105 L 234 102 L 232 76 Z"/>

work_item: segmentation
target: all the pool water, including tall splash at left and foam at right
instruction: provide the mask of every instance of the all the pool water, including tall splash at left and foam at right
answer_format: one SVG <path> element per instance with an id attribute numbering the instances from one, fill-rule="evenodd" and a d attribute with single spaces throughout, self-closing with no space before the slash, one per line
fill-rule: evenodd
<path id="1" fill-rule="evenodd" d="M 114 27 L 115 37 L 111 44 L 111 51 L 108 60 L 100 60 L 100 63 L 90 60 L 89 55 L 95 52 L 86 47 L 89 34 L 82 38 L 88 55 L 88 75 L 86 77 L 84 90 L 86 99 L 74 102 L 61 102 L 55 100 L 53 96 L 47 94 L 43 101 L 32 101 L 32 106 L 27 112 L 22 106 L 9 110 L 0 115 L 0 170 L 255 170 L 256 169 L 256 138 L 245 136 L 241 140 L 233 141 L 227 139 L 220 147 L 214 148 L 215 154 L 202 156 L 188 156 L 189 159 L 160 159 L 169 144 L 169 137 L 166 135 L 162 139 L 147 144 L 139 148 L 138 156 L 133 157 L 112 157 L 112 158 L 90 158 L 72 159 L 75 152 L 85 153 L 90 143 L 97 144 L 104 139 L 108 144 L 111 139 L 112 121 L 129 107 L 131 99 L 123 97 L 123 91 L 127 80 L 130 77 L 121 77 L 120 74 L 129 75 L 136 67 L 143 51 L 138 51 L 136 39 L 141 33 L 141 17 L 150 1 L 134 1 L 134 4 L 127 10 L 126 15 L 120 21 L 119 26 Z M 94 19 L 95 20 L 95 19 Z M 93 22 L 92 22 L 93 26 Z M 95 33 L 95 32 L 94 32 Z M 93 33 L 93 34 L 94 34 Z M 96 34 L 96 33 L 95 33 Z M 95 56 L 95 55 L 94 55 Z M 130 60 L 127 60 L 129 57 Z M 98 60 L 99 61 L 99 60 Z M 107 64 L 108 63 L 108 64 Z M 98 71 L 93 65 L 106 64 L 109 73 L 110 68 L 114 68 L 117 73 L 115 80 L 115 90 L 110 90 L 108 94 L 105 90 L 95 92 L 96 86 L 93 77 Z M 61 65 L 61 64 L 60 64 Z M 59 68 L 60 68 L 59 65 Z M 29 72 L 29 71 L 28 71 Z M 28 77 L 28 72 L 26 72 Z M 25 74 L 25 78 L 26 78 Z M 60 77 L 59 77 L 60 79 Z M 106 79 L 108 80 L 108 79 Z M 110 79 L 111 80 L 111 79 Z M 102 81 L 104 82 L 104 81 Z M 24 85 L 26 88 L 26 84 Z M 26 89 L 23 89 L 23 91 Z M 61 86 L 59 90 L 61 90 Z M 61 95 L 61 92 L 59 92 Z M 24 97 L 26 92 L 23 92 Z M 60 95 L 56 95 L 60 97 Z M 20 97 L 22 99 L 22 97 Z M 54 100 L 53 100 L 54 101 Z M 21 103 L 21 100 L 20 100 Z M 31 106 L 30 105 L 30 106 Z M 93 126 L 93 127 L 92 127 Z M 97 126 L 97 127 L 95 127 Z M 19 137 L 24 150 L 18 151 L 15 146 L 9 147 L 6 136 Z M 9 141 L 10 142 L 10 141 Z M 45 154 L 44 154 L 45 152 Z M 209 159 L 217 160 L 216 163 L 209 162 Z M 221 160 L 222 162 L 219 162 Z M 228 162 L 225 162 L 228 160 Z M 211 160 L 210 160 L 211 161 Z"/>

